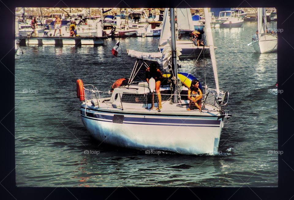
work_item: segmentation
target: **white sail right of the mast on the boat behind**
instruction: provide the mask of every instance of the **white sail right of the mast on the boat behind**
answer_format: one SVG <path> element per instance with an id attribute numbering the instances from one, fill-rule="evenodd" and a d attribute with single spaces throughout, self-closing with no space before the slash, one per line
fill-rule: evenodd
<path id="1" fill-rule="evenodd" d="M 177 8 L 178 30 L 194 31 L 194 24 L 190 8 Z"/>

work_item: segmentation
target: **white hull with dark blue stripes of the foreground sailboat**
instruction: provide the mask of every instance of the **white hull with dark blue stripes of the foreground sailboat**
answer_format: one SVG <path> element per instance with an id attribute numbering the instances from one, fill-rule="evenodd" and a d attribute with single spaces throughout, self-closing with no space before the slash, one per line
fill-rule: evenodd
<path id="1" fill-rule="evenodd" d="M 199 116 L 149 112 L 153 114 L 81 106 L 82 122 L 90 134 L 101 142 L 138 150 L 163 150 L 179 154 L 217 153 L 223 127 L 222 118 L 217 120 L 217 115 L 200 112 Z"/>

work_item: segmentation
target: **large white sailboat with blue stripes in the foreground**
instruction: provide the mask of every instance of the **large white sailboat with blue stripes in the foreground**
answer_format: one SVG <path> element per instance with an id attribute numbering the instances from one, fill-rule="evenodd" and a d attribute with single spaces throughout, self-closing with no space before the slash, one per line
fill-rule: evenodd
<path id="1" fill-rule="evenodd" d="M 171 8 L 170 11 L 171 16 L 174 16 L 174 9 Z M 166 9 L 165 14 L 167 13 Z M 208 15 L 208 9 L 205 9 L 206 14 Z M 170 24 L 171 45 L 164 52 L 171 53 L 171 60 L 168 60 L 172 66 L 171 80 L 178 80 L 174 17 L 171 17 Z M 205 26 L 210 28 L 210 20 L 206 21 Z M 101 92 L 93 85 L 83 85 L 81 79 L 77 80 L 77 96 L 82 101 L 81 119 L 90 134 L 101 142 L 138 150 L 217 154 L 220 133 L 224 126 L 223 120 L 231 115 L 224 110 L 228 91 L 224 93 L 219 90 L 211 32 L 208 35 L 216 89 L 208 88 L 206 85 L 202 87 L 201 111 L 187 111 L 186 105 L 189 104 L 189 100 L 187 95 L 179 91 L 187 91 L 187 87 L 190 87 L 186 81 L 191 82 L 190 78 L 194 77 L 187 73 L 186 79 L 182 82 L 184 86 L 177 81 L 172 81 L 171 85 L 161 85 L 162 108 L 150 109 L 151 91 L 154 88 L 151 84 L 148 86 L 147 82 L 133 82 L 140 68 L 147 65 L 142 62 L 138 67 L 136 61 L 129 85 L 115 88 L 113 93 Z M 150 59 L 153 59 L 151 57 Z M 156 107 L 158 103 L 155 98 Z"/>

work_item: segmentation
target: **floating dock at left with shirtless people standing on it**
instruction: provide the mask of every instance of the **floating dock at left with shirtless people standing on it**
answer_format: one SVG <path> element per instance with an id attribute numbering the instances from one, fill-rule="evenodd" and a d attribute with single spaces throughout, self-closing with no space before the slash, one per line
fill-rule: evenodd
<path id="1" fill-rule="evenodd" d="M 51 37 L 51 36 L 18 36 L 19 45 L 104 45 L 107 36 L 96 37 Z"/>

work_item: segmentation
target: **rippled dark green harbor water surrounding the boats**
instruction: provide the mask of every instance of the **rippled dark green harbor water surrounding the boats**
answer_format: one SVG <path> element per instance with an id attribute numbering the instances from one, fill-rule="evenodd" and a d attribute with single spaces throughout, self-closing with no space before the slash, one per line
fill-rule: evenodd
<path id="1" fill-rule="evenodd" d="M 15 55 L 17 186 L 277 187 L 277 53 L 247 46 L 256 29 L 257 22 L 212 29 L 219 85 L 230 92 L 226 110 L 233 115 L 224 121 L 215 156 L 109 146 L 81 122 L 76 80 L 108 91 L 116 79 L 130 77 L 136 59 L 126 49 L 157 52 L 159 37 L 121 39 L 118 57 L 111 54 L 118 38 L 103 46 L 22 46 Z M 179 71 L 193 67 L 202 85 L 215 88 L 210 58 L 178 63 Z M 144 79 L 141 69 L 136 80 Z"/>

